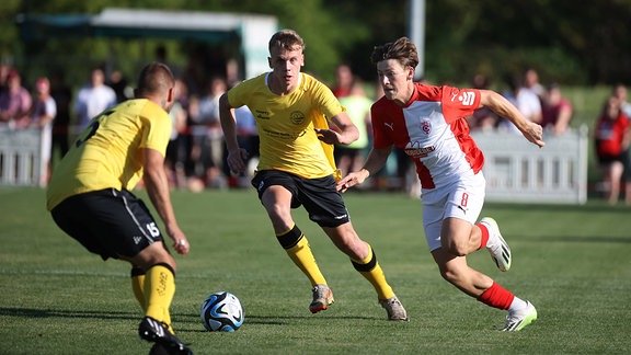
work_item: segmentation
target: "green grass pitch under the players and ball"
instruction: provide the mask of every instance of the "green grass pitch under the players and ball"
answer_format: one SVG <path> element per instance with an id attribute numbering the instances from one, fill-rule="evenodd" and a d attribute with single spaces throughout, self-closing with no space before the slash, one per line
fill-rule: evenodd
<path id="1" fill-rule="evenodd" d="M 145 196 L 139 193 L 140 196 Z M 308 310 L 310 287 L 277 245 L 252 191 L 175 192 L 192 252 L 177 256 L 173 325 L 196 354 L 629 354 L 631 209 L 494 205 L 514 252 L 501 273 L 485 251 L 470 264 L 531 300 L 539 320 L 503 333 L 505 312 L 444 282 L 427 252 L 418 201 L 400 194 L 346 195 L 356 229 L 370 242 L 411 321 L 389 322 L 372 287 L 308 221 L 309 237 L 335 294 Z M 129 267 L 102 262 L 57 229 L 44 191 L 0 187 L 0 354 L 147 354 Z M 206 332 L 198 310 L 216 290 L 237 295 L 245 322 Z"/>

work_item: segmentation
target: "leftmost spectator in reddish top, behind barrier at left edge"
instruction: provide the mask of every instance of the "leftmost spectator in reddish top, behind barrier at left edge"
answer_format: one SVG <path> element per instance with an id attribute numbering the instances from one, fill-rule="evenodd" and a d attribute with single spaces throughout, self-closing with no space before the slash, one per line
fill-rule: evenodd
<path id="1" fill-rule="evenodd" d="M 28 124 L 28 114 L 33 107 L 33 98 L 22 87 L 22 78 L 15 69 L 7 75 L 7 90 L 0 94 L 0 122 L 10 127 L 24 128 Z"/>

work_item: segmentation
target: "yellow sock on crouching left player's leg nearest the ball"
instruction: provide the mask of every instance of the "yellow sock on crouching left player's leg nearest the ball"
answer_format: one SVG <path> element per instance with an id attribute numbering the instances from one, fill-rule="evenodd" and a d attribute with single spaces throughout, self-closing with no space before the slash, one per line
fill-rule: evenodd
<path id="1" fill-rule="evenodd" d="M 156 264 L 147 271 L 145 278 L 145 316 L 151 317 L 171 328 L 171 313 L 169 308 L 175 295 L 175 273 L 168 264 Z"/>

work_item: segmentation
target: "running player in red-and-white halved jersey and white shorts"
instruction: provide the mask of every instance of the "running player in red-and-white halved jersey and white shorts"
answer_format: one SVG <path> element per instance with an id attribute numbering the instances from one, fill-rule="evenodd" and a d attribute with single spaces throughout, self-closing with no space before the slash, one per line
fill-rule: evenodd
<path id="1" fill-rule="evenodd" d="M 423 226 L 440 275 L 479 301 L 508 310 L 503 331 L 519 331 L 537 319 L 527 300 L 467 264 L 467 255 L 486 248 L 501 271 L 510 268 L 510 249 L 497 222 L 478 217 L 484 204 L 484 157 L 469 135 L 467 116 L 482 106 L 506 117 L 532 144 L 543 147 L 542 128 L 491 90 L 435 87 L 413 81 L 418 55 L 406 37 L 375 47 L 371 56 L 385 96 L 372 104 L 375 139 L 364 168 L 337 183 L 363 183 L 387 162 L 392 147 L 416 165 L 423 198 Z"/>

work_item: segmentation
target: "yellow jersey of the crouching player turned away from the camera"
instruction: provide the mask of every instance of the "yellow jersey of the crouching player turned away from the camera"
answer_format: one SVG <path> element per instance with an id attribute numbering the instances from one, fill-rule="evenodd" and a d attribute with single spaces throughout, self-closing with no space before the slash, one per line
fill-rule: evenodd
<path id="1" fill-rule="evenodd" d="M 133 190 L 142 178 L 142 148 L 165 153 L 171 118 L 158 104 L 136 99 L 93 118 L 53 172 L 50 210 L 65 198 L 113 187 Z"/>

